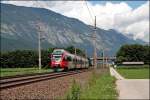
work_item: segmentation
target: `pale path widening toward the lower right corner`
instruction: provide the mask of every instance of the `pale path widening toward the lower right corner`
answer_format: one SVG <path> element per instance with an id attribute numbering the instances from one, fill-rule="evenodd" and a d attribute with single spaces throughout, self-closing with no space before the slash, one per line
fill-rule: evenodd
<path id="1" fill-rule="evenodd" d="M 118 99 L 150 99 L 149 79 L 125 79 L 113 68 L 110 73 L 117 78 Z"/>

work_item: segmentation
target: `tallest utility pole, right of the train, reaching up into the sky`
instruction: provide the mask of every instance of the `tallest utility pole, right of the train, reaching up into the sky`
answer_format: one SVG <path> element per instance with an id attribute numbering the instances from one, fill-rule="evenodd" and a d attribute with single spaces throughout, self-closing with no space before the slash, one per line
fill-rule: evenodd
<path id="1" fill-rule="evenodd" d="M 97 52 L 96 52 L 96 16 L 94 22 L 94 34 L 93 34 L 93 45 L 94 45 L 94 68 L 97 68 Z"/>

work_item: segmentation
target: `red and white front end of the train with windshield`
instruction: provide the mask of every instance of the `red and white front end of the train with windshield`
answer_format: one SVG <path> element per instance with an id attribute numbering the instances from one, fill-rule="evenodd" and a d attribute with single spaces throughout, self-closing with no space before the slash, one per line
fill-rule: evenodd
<path id="1" fill-rule="evenodd" d="M 63 68 L 64 65 L 63 63 L 63 53 L 64 50 L 63 49 L 55 49 L 53 51 L 53 53 L 51 54 L 51 63 L 50 66 L 53 69 L 57 69 L 57 68 Z"/>

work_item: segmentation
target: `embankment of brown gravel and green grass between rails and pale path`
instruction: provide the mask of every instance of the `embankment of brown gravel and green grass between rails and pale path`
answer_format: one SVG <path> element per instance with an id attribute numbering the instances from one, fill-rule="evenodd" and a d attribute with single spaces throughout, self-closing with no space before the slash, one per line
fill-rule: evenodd
<path id="1" fill-rule="evenodd" d="M 110 92 L 111 91 L 111 92 Z M 108 68 L 99 68 L 32 84 L 2 89 L 6 99 L 116 99 L 115 78 Z"/>

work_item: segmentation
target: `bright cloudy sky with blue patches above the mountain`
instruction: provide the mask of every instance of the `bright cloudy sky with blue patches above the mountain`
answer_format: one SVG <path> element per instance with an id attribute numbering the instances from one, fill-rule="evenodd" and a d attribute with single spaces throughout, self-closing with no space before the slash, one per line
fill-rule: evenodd
<path id="1" fill-rule="evenodd" d="M 74 17 L 86 24 L 116 29 L 134 39 L 149 41 L 149 1 L 2 1 L 19 6 L 40 7 Z M 90 9 L 91 15 L 88 12 Z"/>

